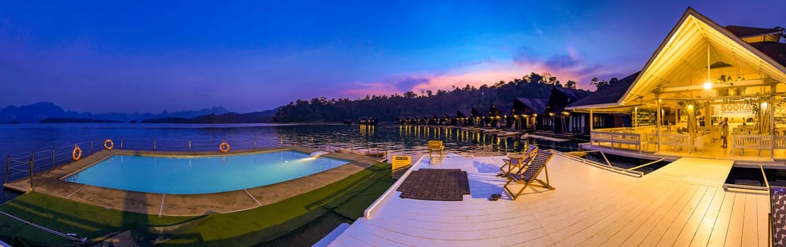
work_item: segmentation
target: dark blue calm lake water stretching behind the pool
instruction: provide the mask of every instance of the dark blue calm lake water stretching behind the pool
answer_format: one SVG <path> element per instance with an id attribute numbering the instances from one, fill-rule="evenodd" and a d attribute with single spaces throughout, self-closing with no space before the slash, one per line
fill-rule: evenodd
<path id="1" fill-rule="evenodd" d="M 529 142 L 543 149 L 573 151 L 573 142 L 553 142 L 517 137 L 501 139 L 461 129 L 400 125 L 186 125 L 186 124 L 2 124 L 0 155 L 10 157 L 9 180 L 29 174 L 29 161 L 43 172 L 54 164 L 72 161 L 75 144 L 83 155 L 100 151 L 104 140 L 115 148 L 147 151 L 218 151 L 222 140 L 232 150 L 296 145 L 320 150 L 351 148 L 360 151 L 388 151 L 390 154 L 423 154 L 428 140 L 443 140 L 446 152 L 488 156 L 520 151 Z M 122 147 L 121 147 L 122 146 Z M 54 150 L 54 155 L 53 155 Z M 92 151 L 91 151 L 92 150 Z M 4 159 L 3 163 L 7 163 Z M 0 169 L 6 177 L 6 164 Z M 16 194 L 4 191 L 0 203 Z"/>

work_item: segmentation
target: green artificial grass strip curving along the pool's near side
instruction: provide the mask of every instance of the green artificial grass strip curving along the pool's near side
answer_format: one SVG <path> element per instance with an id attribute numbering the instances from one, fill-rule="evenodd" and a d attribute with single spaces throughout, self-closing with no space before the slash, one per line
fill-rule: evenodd
<path id="1" fill-rule="evenodd" d="M 55 231 L 87 238 L 131 230 L 141 245 L 310 245 L 340 223 L 362 216 L 395 181 L 390 165 L 376 163 L 317 190 L 241 212 L 201 217 L 154 216 L 72 202 L 39 193 L 21 195 L 0 211 Z M 176 232 L 152 227 L 181 225 Z M 13 237 L 21 241 L 14 240 Z M 0 239 L 31 245 L 73 245 L 68 239 L 0 215 Z M 158 239 L 158 242 L 156 242 Z M 163 239 L 163 240 L 162 240 Z"/>

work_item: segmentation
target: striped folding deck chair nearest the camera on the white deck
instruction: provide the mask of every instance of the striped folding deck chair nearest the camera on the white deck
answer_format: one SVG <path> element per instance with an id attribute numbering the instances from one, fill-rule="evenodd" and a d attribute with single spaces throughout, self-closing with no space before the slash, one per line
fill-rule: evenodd
<path id="1" fill-rule="evenodd" d="M 539 185 L 532 184 L 533 186 L 544 187 L 549 190 L 554 190 L 549 184 L 549 169 L 546 168 L 546 163 L 551 160 L 553 157 L 553 153 L 549 151 L 538 151 L 538 154 L 535 154 L 534 158 L 532 158 L 532 162 L 527 167 L 521 170 L 521 173 L 511 174 L 508 177 L 508 183 L 505 183 L 505 192 L 510 194 L 510 197 L 513 198 L 515 201 L 516 198 L 519 198 L 521 192 L 527 188 L 531 183 L 538 182 Z M 543 180 L 538 180 L 538 175 L 540 175 L 541 171 L 545 170 L 545 182 Z M 511 189 L 508 187 L 511 183 L 516 182 L 523 184 L 524 186 L 517 193 L 513 193 Z"/>

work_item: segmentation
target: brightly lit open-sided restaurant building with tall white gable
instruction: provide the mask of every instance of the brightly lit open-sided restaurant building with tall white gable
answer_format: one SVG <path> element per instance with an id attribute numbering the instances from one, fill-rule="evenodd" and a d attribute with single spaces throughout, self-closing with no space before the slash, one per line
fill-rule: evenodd
<path id="1" fill-rule="evenodd" d="M 589 148 L 786 158 L 783 34 L 775 28 L 722 27 L 689 8 L 641 71 L 565 109 L 593 119 Z M 623 119 L 597 114 L 627 114 L 632 122 L 608 128 Z M 721 147 L 726 128 L 728 144 Z"/>

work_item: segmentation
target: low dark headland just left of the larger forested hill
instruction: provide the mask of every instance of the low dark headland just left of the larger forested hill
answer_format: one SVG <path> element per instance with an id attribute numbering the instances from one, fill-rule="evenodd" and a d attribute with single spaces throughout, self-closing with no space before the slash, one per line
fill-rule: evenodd
<path id="1" fill-rule="evenodd" d="M 143 120 L 142 123 L 191 123 L 191 124 L 227 124 L 227 123 L 262 123 L 271 122 L 278 109 L 268 111 L 255 111 L 240 114 L 228 112 L 225 114 L 204 114 L 196 118 L 154 118 Z"/>

